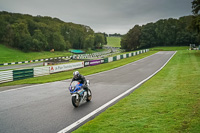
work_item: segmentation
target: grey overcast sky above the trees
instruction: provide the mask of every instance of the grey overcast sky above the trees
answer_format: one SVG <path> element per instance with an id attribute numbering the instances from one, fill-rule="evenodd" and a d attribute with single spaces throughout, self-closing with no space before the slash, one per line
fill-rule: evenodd
<path id="1" fill-rule="evenodd" d="M 0 11 L 50 16 L 125 34 L 134 25 L 192 15 L 193 0 L 0 0 Z"/>

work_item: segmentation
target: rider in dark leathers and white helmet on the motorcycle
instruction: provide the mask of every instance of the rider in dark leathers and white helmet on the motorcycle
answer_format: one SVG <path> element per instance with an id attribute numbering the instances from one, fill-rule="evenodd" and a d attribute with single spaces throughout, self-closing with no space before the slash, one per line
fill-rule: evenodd
<path id="1" fill-rule="evenodd" d="M 87 92 L 88 94 L 88 87 L 87 87 L 87 81 L 83 75 L 81 75 L 78 71 L 73 72 L 74 77 L 72 78 L 72 81 L 78 81 L 79 83 L 83 84 L 83 89 Z"/>

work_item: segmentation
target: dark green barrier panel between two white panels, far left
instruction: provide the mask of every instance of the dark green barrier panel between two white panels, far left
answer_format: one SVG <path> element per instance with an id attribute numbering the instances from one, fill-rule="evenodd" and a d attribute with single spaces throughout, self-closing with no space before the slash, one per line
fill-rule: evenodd
<path id="1" fill-rule="evenodd" d="M 13 70 L 13 80 L 20 80 L 33 77 L 33 69 Z"/>

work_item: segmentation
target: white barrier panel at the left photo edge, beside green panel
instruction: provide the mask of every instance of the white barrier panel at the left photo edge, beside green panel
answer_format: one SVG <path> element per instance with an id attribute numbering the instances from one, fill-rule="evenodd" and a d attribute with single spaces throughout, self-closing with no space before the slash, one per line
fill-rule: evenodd
<path id="1" fill-rule="evenodd" d="M 13 70 L 0 72 L 0 83 L 13 81 Z"/>

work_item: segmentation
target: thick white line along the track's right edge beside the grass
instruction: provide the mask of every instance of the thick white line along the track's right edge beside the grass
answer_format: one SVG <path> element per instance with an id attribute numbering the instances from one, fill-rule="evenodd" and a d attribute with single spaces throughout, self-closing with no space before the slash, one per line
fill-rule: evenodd
<path id="1" fill-rule="evenodd" d="M 176 51 L 177 52 L 177 51 Z M 138 83 L 137 85 L 133 86 L 132 88 L 130 88 L 129 90 L 127 90 L 126 92 L 122 93 L 121 95 L 115 97 L 114 99 L 112 99 L 111 101 L 107 102 L 106 104 L 102 105 L 101 107 L 97 108 L 96 110 L 94 110 L 93 112 L 89 113 L 88 115 L 84 116 L 83 118 L 79 119 L 78 121 L 74 122 L 73 124 L 69 125 L 68 127 L 62 129 L 61 131 L 59 131 L 58 133 L 66 133 L 68 131 L 70 131 L 71 129 L 73 129 L 74 127 L 78 126 L 79 124 L 81 124 L 82 122 L 86 121 L 87 119 L 89 119 L 90 117 L 92 117 L 93 115 L 95 115 L 96 113 L 100 112 L 101 110 L 103 110 L 104 108 L 106 108 L 107 106 L 111 105 L 112 103 L 114 103 L 115 101 L 117 101 L 118 99 L 122 98 L 123 96 L 127 95 L 128 93 L 132 92 L 133 90 L 135 90 L 137 87 L 139 87 L 141 84 L 143 84 L 144 82 L 146 82 L 147 80 L 149 80 L 151 77 L 153 77 L 156 73 L 158 73 L 160 70 L 162 70 L 167 63 L 171 60 L 171 58 L 176 54 L 176 52 L 168 59 L 168 61 L 160 68 L 158 69 L 156 72 L 154 72 L 152 75 L 150 75 L 149 77 L 147 77 L 146 79 L 142 80 L 140 83 Z"/>

